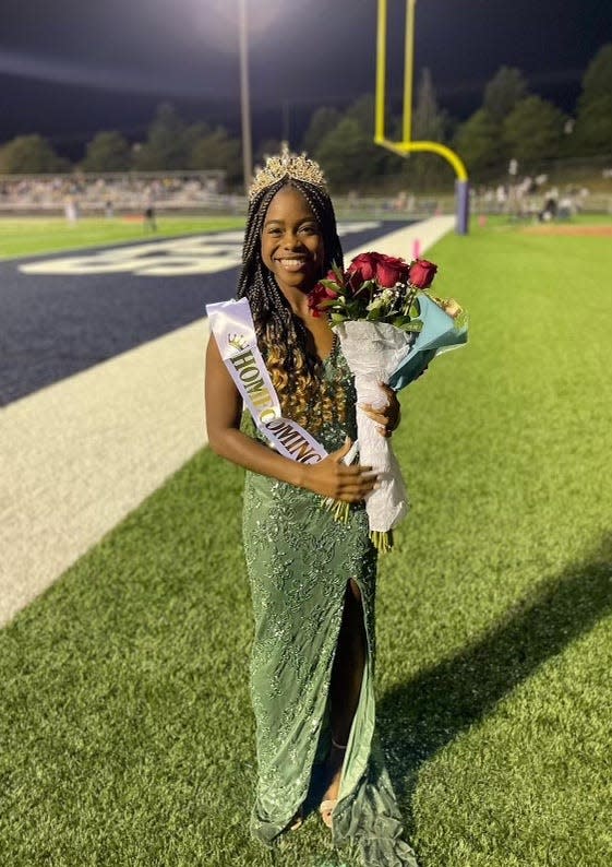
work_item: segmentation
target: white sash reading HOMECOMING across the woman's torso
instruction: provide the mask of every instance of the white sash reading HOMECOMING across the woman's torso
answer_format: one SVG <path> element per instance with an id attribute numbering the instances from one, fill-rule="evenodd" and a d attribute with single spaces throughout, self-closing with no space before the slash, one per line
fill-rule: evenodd
<path id="1" fill-rule="evenodd" d="M 247 298 L 206 305 L 206 313 L 221 358 L 255 425 L 275 449 L 302 464 L 316 464 L 327 452 L 297 421 L 283 418 L 265 361 L 257 347 Z"/>

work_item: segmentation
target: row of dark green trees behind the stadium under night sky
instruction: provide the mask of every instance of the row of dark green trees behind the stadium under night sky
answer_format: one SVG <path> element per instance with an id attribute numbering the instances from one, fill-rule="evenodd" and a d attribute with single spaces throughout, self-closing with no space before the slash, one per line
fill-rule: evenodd
<path id="1" fill-rule="evenodd" d="M 399 138 L 399 119 L 387 136 Z M 348 109 L 321 107 L 311 116 L 300 146 L 323 166 L 337 190 L 368 191 L 404 182 L 433 189 L 452 182 L 453 169 L 440 158 L 415 154 L 405 159 L 374 145 L 374 99 L 362 96 Z M 507 171 L 511 159 L 521 170 L 542 161 L 612 156 L 612 44 L 589 63 L 572 117 L 529 92 L 518 69 L 502 67 L 484 87 L 482 105 L 463 122 L 441 108 L 429 70 L 418 82 L 412 139 L 449 145 L 464 159 L 475 182 Z M 295 143 L 291 143 L 295 146 Z M 256 158 L 278 150 L 279 142 L 260 143 Z M 158 107 L 142 143 L 130 143 L 116 130 L 98 132 L 79 165 L 59 156 L 41 135 L 21 135 L 0 146 L 0 174 L 107 171 L 184 171 L 221 169 L 231 188 L 241 183 L 241 142 L 223 127 L 183 122 L 170 104 Z"/>

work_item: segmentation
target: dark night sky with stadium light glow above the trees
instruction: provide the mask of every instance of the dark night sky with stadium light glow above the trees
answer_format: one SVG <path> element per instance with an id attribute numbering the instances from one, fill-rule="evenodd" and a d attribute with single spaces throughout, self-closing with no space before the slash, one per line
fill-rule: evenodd
<path id="1" fill-rule="evenodd" d="M 320 105 L 373 92 L 375 0 L 248 0 L 254 138 L 291 143 Z M 388 0 L 389 86 L 400 94 L 403 0 Z M 239 132 L 238 0 L 1 0 L 0 142 L 39 132 L 64 151 L 100 129 L 143 138 L 155 106 Z M 475 110 L 502 66 L 571 112 L 612 41 L 612 0 L 418 0 L 416 75 Z"/>

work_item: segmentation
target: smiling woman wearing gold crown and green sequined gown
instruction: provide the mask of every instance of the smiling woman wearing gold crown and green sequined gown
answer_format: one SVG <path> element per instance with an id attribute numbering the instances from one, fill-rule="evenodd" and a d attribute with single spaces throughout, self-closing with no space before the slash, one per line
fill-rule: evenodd
<path id="1" fill-rule="evenodd" d="M 249 300 L 283 416 L 328 456 L 304 465 L 269 448 L 253 425 L 241 430 L 242 401 L 211 339 L 209 443 L 248 471 L 259 763 L 251 829 L 272 843 L 299 827 L 316 797 L 334 841 L 356 842 L 367 867 L 412 866 L 374 731 L 376 551 L 363 500 L 376 476 L 343 463 L 356 436 L 352 377 L 328 322 L 311 316 L 307 300 L 334 262 L 341 268 L 343 252 L 321 169 L 304 156 L 268 159 L 251 190 L 238 296 Z M 367 407 L 384 436 L 399 419 L 391 389 L 388 399 L 383 411 Z M 351 503 L 349 521 L 335 521 L 322 497 Z"/>

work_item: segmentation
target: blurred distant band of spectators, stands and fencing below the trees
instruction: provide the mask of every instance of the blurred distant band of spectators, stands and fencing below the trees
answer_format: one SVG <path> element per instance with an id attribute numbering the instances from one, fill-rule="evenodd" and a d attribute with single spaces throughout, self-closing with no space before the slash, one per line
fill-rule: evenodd
<path id="1" fill-rule="evenodd" d="M 589 161 L 555 161 L 529 167 L 525 175 L 472 185 L 473 214 L 536 216 L 553 197 L 563 214 L 612 214 L 612 156 Z M 142 217 L 158 214 L 245 215 L 241 194 L 227 192 L 223 171 L 111 173 L 100 175 L 0 175 L 0 216 L 64 215 Z M 385 179 L 385 188 L 394 185 Z M 406 178 L 386 195 L 353 191 L 334 195 L 343 218 L 410 218 L 452 214 L 455 198 L 445 192 L 411 193 Z"/>

